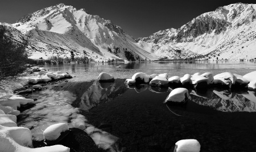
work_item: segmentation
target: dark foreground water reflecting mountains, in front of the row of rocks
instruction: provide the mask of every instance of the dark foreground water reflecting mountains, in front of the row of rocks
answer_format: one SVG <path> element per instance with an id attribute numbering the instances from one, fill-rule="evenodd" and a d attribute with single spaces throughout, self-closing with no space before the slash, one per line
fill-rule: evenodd
<path id="1" fill-rule="evenodd" d="M 53 89 L 75 94 L 72 106 L 80 109 L 88 123 L 109 124 L 106 132 L 119 138 L 119 149 L 150 151 L 156 146 L 156 151 L 169 151 L 170 145 L 185 138 L 197 139 L 202 151 L 256 149 L 249 146 L 256 142 L 255 92 L 189 89 L 187 103 L 166 107 L 163 102 L 174 88 L 126 86 L 124 82 L 68 82 Z"/>

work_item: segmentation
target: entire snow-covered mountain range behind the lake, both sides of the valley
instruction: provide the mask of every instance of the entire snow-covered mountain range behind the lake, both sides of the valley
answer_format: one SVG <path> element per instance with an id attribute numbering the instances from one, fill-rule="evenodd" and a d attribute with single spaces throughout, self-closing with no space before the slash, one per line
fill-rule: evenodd
<path id="1" fill-rule="evenodd" d="M 135 40 L 110 20 L 60 3 L 23 16 L 10 27 L 13 39 L 30 36 L 31 58 L 87 56 L 117 59 L 240 60 L 256 58 L 256 5 L 218 7 L 179 29 L 165 29 Z M 175 22 L 175 21 L 174 21 Z"/>

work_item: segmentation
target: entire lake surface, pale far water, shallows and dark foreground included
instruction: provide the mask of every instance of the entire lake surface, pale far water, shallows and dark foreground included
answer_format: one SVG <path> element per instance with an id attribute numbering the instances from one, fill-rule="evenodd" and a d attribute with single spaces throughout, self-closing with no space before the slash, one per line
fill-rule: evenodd
<path id="1" fill-rule="evenodd" d="M 30 127 L 36 140 L 43 139 L 47 126 L 64 122 L 83 129 L 105 150 L 170 151 L 175 142 L 194 138 L 200 142 L 201 151 L 256 151 L 255 92 L 189 89 L 186 104 L 168 106 L 163 102 L 173 88 L 128 87 L 123 83 L 123 78 L 130 78 L 139 71 L 168 73 L 169 77 L 208 71 L 243 75 L 255 70 L 254 63 L 161 62 L 45 67 L 67 71 L 76 77 L 70 79 L 71 82 L 48 84 L 47 90 L 28 96 L 38 100 L 35 107 L 22 112 L 18 125 Z M 121 79 L 115 79 L 114 83 L 92 80 L 101 71 Z"/>

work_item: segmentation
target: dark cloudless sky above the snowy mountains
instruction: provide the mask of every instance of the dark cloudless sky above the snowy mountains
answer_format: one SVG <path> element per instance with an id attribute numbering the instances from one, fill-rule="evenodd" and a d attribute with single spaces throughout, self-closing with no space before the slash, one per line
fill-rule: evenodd
<path id="1" fill-rule="evenodd" d="M 0 0 L 0 22 L 15 23 L 23 15 L 64 3 L 109 19 L 138 38 L 160 29 L 179 28 L 204 12 L 237 2 L 256 3 L 255 0 Z"/>

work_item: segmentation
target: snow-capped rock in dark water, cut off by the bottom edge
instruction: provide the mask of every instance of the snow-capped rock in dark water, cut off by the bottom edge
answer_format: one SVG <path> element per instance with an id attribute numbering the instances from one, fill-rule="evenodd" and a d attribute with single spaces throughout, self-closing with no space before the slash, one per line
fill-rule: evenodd
<path id="1" fill-rule="evenodd" d="M 199 152 L 200 148 L 201 145 L 197 140 L 180 140 L 175 143 L 176 152 Z"/>

